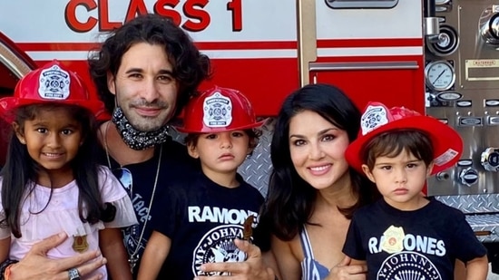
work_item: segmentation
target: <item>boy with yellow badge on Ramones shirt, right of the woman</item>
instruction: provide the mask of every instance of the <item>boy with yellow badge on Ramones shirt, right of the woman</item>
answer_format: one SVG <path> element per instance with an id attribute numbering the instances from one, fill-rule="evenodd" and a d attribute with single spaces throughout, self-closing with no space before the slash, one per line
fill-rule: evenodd
<path id="1" fill-rule="evenodd" d="M 453 166 L 462 151 L 459 134 L 441 121 L 367 105 L 345 156 L 383 198 L 357 210 L 343 247 L 354 263 L 367 262 L 367 279 L 453 279 L 456 258 L 466 279 L 486 278 L 486 249 L 465 215 L 422 192 L 426 178 Z"/>

